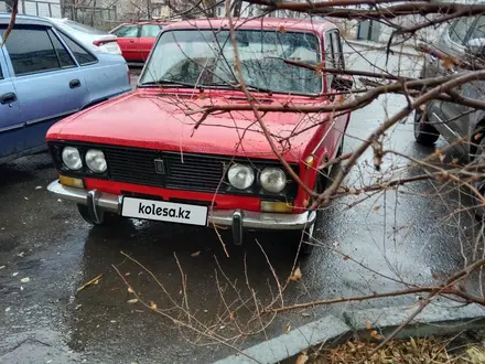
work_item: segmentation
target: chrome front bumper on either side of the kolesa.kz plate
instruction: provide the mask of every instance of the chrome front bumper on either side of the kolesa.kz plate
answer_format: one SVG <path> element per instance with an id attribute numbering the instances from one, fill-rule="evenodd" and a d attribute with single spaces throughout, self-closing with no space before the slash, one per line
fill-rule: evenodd
<path id="1" fill-rule="evenodd" d="M 122 195 L 103 193 L 96 190 L 86 191 L 82 189 L 68 188 L 58 183 L 57 180 L 51 182 L 47 190 L 56 194 L 60 199 L 73 201 L 88 205 L 96 213 L 103 210 L 106 212 L 121 215 Z M 209 225 L 233 226 L 239 231 L 248 229 L 303 229 L 314 223 L 315 212 L 304 212 L 301 214 L 277 214 L 260 213 L 244 210 L 218 210 L 211 211 L 207 216 Z"/>

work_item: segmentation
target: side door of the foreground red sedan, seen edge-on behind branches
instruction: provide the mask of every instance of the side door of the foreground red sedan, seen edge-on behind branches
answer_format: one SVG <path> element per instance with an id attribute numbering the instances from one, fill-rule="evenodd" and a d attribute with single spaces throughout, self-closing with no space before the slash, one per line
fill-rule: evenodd
<path id="1" fill-rule="evenodd" d="M 341 34 L 337 29 L 332 29 L 325 33 L 324 57 L 325 57 L 325 67 L 345 69 Z M 326 78 L 327 92 L 336 92 L 332 87 L 334 75 L 327 73 L 325 75 L 325 78 Z M 341 114 L 341 113 L 336 113 L 336 114 Z M 336 116 L 332 120 L 332 129 L 328 131 L 327 142 L 333 147 L 333 151 L 335 152 L 338 149 L 338 143 L 345 131 L 346 124 L 347 124 L 346 115 Z"/>

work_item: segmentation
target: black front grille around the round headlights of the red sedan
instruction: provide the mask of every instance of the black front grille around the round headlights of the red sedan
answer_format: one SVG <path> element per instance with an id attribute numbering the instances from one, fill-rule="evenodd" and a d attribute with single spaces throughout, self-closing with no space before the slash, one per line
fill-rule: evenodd
<path id="1" fill-rule="evenodd" d="M 278 161 L 252 159 L 249 161 L 246 158 L 233 159 L 231 157 L 224 156 L 180 153 L 76 142 L 69 142 L 69 144 L 79 149 L 83 159 L 86 151 L 90 148 L 104 151 L 108 162 L 108 172 L 103 175 L 97 174 L 96 178 L 99 179 L 173 190 L 265 195 L 283 201 L 293 199 L 297 195 L 298 186 L 292 181 L 279 194 L 267 193 L 257 184 L 251 188 L 251 191 L 237 191 L 231 189 L 226 181 L 225 171 L 234 162 L 250 163 L 258 171 L 265 167 L 279 165 Z M 50 142 L 51 153 L 54 157 L 57 169 L 66 175 L 86 174 L 95 176 L 87 168 L 78 172 L 66 170 L 61 160 L 61 151 L 64 146 L 65 143 Z M 162 163 L 162 173 L 157 173 L 155 160 Z M 293 169 L 298 173 L 295 165 Z"/>

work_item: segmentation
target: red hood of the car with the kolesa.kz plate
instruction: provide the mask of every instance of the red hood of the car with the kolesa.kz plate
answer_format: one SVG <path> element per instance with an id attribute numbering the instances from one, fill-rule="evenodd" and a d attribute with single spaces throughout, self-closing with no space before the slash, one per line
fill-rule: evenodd
<path id="1" fill-rule="evenodd" d="M 288 105 L 289 99 L 262 98 L 260 101 Z M 274 153 L 252 111 L 211 114 L 202 122 L 204 114 L 187 115 L 205 106 L 229 103 L 248 104 L 242 94 L 134 90 L 55 124 L 47 132 L 47 140 L 273 159 Z M 306 97 L 292 97 L 291 104 L 316 103 Z M 319 104 L 322 105 L 322 99 Z M 262 120 L 280 152 L 289 160 L 299 160 L 315 133 L 315 128 L 306 129 L 325 117 L 324 114 L 310 117 L 268 113 Z M 284 138 L 288 139 L 282 141 Z"/>

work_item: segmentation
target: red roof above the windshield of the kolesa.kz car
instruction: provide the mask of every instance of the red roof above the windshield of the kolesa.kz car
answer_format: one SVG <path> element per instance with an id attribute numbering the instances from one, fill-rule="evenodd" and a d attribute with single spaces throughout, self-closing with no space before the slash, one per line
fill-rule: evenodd
<path id="1" fill-rule="evenodd" d="M 334 23 L 326 20 L 304 20 L 291 18 L 238 18 L 234 20 L 235 26 L 238 29 L 284 29 L 284 31 L 301 31 L 301 32 L 316 32 L 323 33 L 330 29 L 337 28 Z M 196 19 L 184 20 L 171 23 L 164 28 L 164 31 L 175 29 L 213 29 L 213 28 L 229 28 L 229 20 L 227 18 L 217 19 Z"/>

